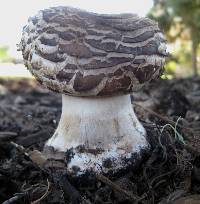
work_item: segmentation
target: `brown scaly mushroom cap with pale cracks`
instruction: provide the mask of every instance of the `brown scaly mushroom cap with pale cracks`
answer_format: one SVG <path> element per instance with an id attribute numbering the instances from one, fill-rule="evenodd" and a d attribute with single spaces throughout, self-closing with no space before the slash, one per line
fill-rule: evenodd
<path id="1" fill-rule="evenodd" d="M 41 84 L 74 96 L 137 91 L 161 75 L 167 56 L 166 40 L 154 21 L 70 7 L 29 18 L 19 47 Z"/>

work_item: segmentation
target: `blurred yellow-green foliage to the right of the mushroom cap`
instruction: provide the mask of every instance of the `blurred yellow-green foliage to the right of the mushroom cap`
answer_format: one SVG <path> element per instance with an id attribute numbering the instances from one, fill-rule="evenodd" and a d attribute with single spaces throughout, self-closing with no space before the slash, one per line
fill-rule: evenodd
<path id="1" fill-rule="evenodd" d="M 175 64 L 179 63 L 192 66 L 193 74 L 197 75 L 200 0 L 154 0 L 149 17 L 158 21 L 170 43 L 181 42 L 167 63 L 167 72 L 175 70 Z"/>

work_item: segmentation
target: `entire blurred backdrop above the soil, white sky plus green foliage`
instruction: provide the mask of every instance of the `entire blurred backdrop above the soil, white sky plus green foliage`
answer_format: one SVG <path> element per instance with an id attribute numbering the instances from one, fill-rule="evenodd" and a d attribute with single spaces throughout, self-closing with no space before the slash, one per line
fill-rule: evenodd
<path id="1" fill-rule="evenodd" d="M 17 52 L 29 16 L 51 6 L 66 5 L 98 13 L 137 13 L 158 21 L 170 57 L 164 78 L 198 75 L 200 64 L 200 0 L 19 0 L 0 7 L 0 76 L 31 77 Z"/>

